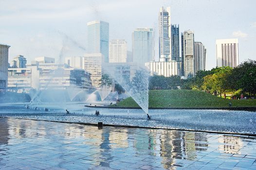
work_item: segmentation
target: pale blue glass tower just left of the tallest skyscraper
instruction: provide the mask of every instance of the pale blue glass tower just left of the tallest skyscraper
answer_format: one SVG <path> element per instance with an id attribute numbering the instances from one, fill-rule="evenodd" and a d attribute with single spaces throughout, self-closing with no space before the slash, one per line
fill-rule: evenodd
<path id="1" fill-rule="evenodd" d="M 154 60 L 154 32 L 152 28 L 137 28 L 132 32 L 133 62 L 145 65 Z"/>

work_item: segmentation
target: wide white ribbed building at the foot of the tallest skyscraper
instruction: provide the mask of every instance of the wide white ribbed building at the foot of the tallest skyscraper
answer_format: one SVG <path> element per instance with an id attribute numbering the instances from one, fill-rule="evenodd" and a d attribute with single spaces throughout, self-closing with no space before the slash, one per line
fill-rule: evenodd
<path id="1" fill-rule="evenodd" d="M 172 75 L 180 75 L 180 62 L 148 62 L 146 67 L 150 70 L 150 75 L 163 75 L 170 77 Z"/>

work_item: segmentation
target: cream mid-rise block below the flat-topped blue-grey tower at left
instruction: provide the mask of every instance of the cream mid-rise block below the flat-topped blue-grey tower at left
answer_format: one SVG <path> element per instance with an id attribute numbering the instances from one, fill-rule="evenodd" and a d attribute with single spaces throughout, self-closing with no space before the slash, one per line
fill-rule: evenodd
<path id="1" fill-rule="evenodd" d="M 101 77 L 104 74 L 102 68 L 104 55 L 101 53 L 88 53 L 84 56 L 83 69 L 91 73 L 91 84 L 100 87 Z"/>

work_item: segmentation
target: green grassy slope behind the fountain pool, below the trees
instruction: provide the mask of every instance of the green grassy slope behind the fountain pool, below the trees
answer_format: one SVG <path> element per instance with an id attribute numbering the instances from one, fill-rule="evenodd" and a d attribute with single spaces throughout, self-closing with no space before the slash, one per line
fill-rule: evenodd
<path id="1" fill-rule="evenodd" d="M 256 100 L 228 100 L 196 90 L 150 90 L 149 107 L 228 107 L 256 106 Z M 132 98 L 121 101 L 117 106 L 138 107 Z"/>

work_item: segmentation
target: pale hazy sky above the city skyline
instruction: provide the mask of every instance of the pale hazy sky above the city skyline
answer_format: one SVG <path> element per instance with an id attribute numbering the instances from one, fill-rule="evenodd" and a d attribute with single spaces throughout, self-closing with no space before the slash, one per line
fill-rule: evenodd
<path id="1" fill-rule="evenodd" d="M 256 60 L 256 0 L 0 0 L 0 43 L 10 45 L 9 62 L 48 56 L 61 61 L 86 53 L 91 20 L 110 23 L 110 40 L 125 39 L 131 51 L 136 28 L 155 29 L 158 13 L 171 6 L 171 24 L 194 31 L 206 48 L 206 69 L 216 67 L 216 39 L 238 38 L 239 62 Z"/>

